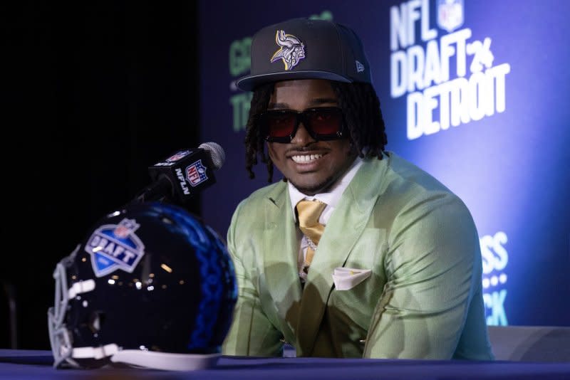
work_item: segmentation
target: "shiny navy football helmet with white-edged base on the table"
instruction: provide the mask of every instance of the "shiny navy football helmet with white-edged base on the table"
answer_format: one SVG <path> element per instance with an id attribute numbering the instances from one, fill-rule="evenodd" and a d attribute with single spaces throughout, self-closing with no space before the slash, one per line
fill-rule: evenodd
<path id="1" fill-rule="evenodd" d="M 211 366 L 237 300 L 224 241 L 170 204 L 133 204 L 101 218 L 53 278 L 57 368 Z"/>

